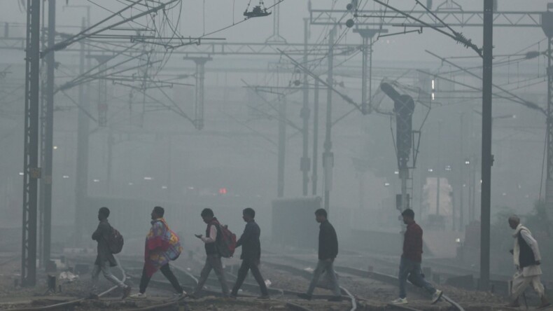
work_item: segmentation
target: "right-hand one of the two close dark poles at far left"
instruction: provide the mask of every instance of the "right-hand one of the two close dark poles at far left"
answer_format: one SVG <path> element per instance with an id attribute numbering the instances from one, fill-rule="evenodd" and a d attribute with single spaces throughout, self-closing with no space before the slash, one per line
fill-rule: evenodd
<path id="1" fill-rule="evenodd" d="M 48 0 L 48 46 L 55 44 L 55 0 Z M 48 267 L 50 261 L 50 243 L 52 235 L 52 152 L 54 148 L 54 51 L 45 55 L 46 88 L 41 118 L 41 162 L 44 176 L 41 179 L 41 209 L 42 209 L 42 258 L 41 263 Z"/>

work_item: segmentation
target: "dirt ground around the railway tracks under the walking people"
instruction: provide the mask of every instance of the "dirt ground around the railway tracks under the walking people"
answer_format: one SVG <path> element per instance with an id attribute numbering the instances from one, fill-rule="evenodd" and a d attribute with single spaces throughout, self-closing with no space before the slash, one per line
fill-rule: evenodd
<path id="1" fill-rule="evenodd" d="M 62 291 L 57 293 L 48 293 L 46 284 L 46 275 L 41 270 L 38 270 L 38 282 L 33 288 L 18 286 L 20 280 L 20 261 L 0 261 L 0 310 L 10 310 L 16 307 L 40 307 L 53 303 L 60 303 L 79 298 L 85 298 L 90 293 L 90 273 L 78 277 L 73 282 L 58 280 L 57 284 L 61 286 Z M 239 263 L 239 261 L 231 260 L 227 264 Z M 174 263 L 181 268 L 190 270 L 193 274 L 198 275 L 202 268 L 202 258 L 196 258 L 193 261 L 188 259 L 180 259 Z M 262 274 L 265 279 L 269 279 L 271 287 L 286 289 L 288 291 L 302 292 L 307 289 L 309 280 L 301 275 L 294 275 L 289 272 L 284 272 L 276 268 L 271 268 L 267 264 L 261 266 Z M 59 272 L 57 273 L 59 275 Z M 162 278 L 161 278 L 162 279 Z M 397 288 L 393 284 L 383 284 L 371 279 L 364 279 L 353 275 L 341 274 L 339 276 L 340 283 L 346 287 L 353 296 L 359 298 L 357 310 L 391 310 L 388 302 L 397 296 Z M 102 277 L 100 277 L 101 286 L 109 287 Z M 136 279 L 130 279 L 129 282 L 136 286 Z M 253 282 L 251 279 L 246 282 Z M 229 282 L 232 284 L 232 282 Z M 210 286 L 211 290 L 218 291 L 215 286 Z M 484 310 L 507 310 L 505 297 L 493 295 L 491 293 L 479 291 L 467 291 L 458 289 L 453 286 L 440 286 L 450 298 L 456 300 L 457 303 L 465 307 L 465 310 L 484 311 Z M 136 292 L 136 289 L 134 289 Z M 328 289 L 316 289 L 316 295 L 330 295 Z M 257 292 L 249 293 L 257 295 Z M 409 307 L 418 310 L 448 310 L 449 304 L 440 302 L 436 305 L 430 305 L 429 298 L 420 291 L 409 291 Z M 120 292 L 114 291 L 113 294 L 100 300 L 83 300 L 75 305 L 75 311 L 91 311 L 91 310 L 137 310 L 161 303 L 172 301 L 172 293 L 167 290 L 156 289 L 154 286 L 148 288 L 147 300 L 120 300 Z M 521 301 L 522 303 L 522 301 Z M 537 305 L 535 301 L 528 302 L 531 305 Z M 304 307 L 309 307 L 311 310 L 321 311 L 342 311 L 350 310 L 351 303 L 344 300 L 342 303 L 328 303 L 326 300 L 300 300 L 294 296 L 275 297 L 272 300 L 257 300 L 255 298 L 240 297 L 237 300 L 229 300 L 228 298 L 220 298 L 215 296 L 206 296 L 198 300 L 190 300 L 186 298 L 181 301 L 177 307 L 176 303 L 158 310 L 230 310 L 230 311 L 254 311 L 254 310 L 297 310 L 293 305 L 299 304 Z M 521 308 L 520 310 L 524 310 Z M 549 311 L 549 310 L 548 310 Z"/>

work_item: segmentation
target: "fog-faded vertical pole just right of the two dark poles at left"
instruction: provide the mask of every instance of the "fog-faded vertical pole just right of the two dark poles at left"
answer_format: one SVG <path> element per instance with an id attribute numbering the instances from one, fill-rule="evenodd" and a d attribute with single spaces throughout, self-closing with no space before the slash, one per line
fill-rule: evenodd
<path id="1" fill-rule="evenodd" d="M 85 29 L 85 19 L 82 22 L 83 30 Z M 85 44 L 80 42 L 80 60 L 79 60 L 79 75 L 82 76 L 85 72 Z M 78 111 L 77 125 L 77 168 L 76 168 L 76 184 L 75 184 L 75 245 L 78 246 L 83 238 L 83 226 L 85 221 L 86 197 L 88 193 L 88 147 L 89 147 L 89 127 L 90 119 L 85 111 L 89 111 L 89 102 L 85 99 L 83 84 L 78 85 L 79 105 L 82 109 Z"/>

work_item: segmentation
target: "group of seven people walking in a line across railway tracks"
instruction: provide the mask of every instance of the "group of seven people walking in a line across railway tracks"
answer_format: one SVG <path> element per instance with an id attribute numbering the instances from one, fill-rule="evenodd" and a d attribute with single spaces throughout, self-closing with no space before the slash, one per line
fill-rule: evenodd
<path id="1" fill-rule="evenodd" d="M 93 289 L 97 284 L 99 273 L 102 272 L 104 277 L 113 284 L 116 284 L 123 290 L 123 299 L 130 296 L 131 298 L 146 298 L 146 287 L 152 275 L 161 270 L 162 274 L 172 284 L 176 296 L 187 295 L 179 284 L 178 279 L 169 268 L 169 261 L 175 260 L 181 254 L 182 247 L 179 242 L 179 237 L 169 229 L 167 222 L 163 218 L 165 210 L 162 207 L 154 207 L 151 213 L 151 229 L 146 236 L 144 247 L 144 268 L 139 285 L 139 292 L 130 295 L 131 288 L 120 279 L 115 277 L 110 270 L 110 267 L 116 266 L 118 263 L 113 256 L 109 241 L 113 235 L 113 228 L 109 225 L 109 209 L 102 207 L 98 212 L 99 224 L 97 230 L 92 234 L 92 240 L 98 242 L 97 258 L 94 261 L 94 269 L 92 270 Z M 206 260 L 204 268 L 200 273 L 197 286 L 193 293 L 188 294 L 190 298 L 197 298 L 204 284 L 209 277 L 211 270 L 214 270 L 219 282 L 221 283 L 221 291 L 223 296 L 227 298 L 237 298 L 238 291 L 246 279 L 248 271 L 251 271 L 255 281 L 258 283 L 261 295 L 260 299 L 269 299 L 269 291 L 260 272 L 261 244 L 260 244 L 260 228 L 255 222 L 255 210 L 246 208 L 242 211 L 242 219 L 246 222 L 244 233 L 239 240 L 236 241 L 235 247 L 241 247 L 241 265 L 238 270 L 237 280 L 229 290 L 228 282 L 223 269 L 221 251 L 218 242 L 223 238 L 223 228 L 221 223 L 214 215 L 213 210 L 206 208 L 200 214 L 202 220 L 207 224 L 205 235 L 195 235 L 198 239 L 204 242 L 206 252 Z M 407 280 L 415 286 L 426 290 L 430 296 L 432 303 L 436 303 L 442 297 L 442 291 L 435 289 L 424 278 L 421 270 L 421 261 L 423 253 L 423 230 L 414 221 L 414 212 L 412 209 L 405 209 L 402 214 L 402 219 L 407 228 L 404 232 L 402 255 L 400 258 L 400 267 L 398 273 L 399 279 L 399 297 L 391 303 L 397 305 L 407 304 L 406 284 Z M 305 293 L 300 293 L 298 296 L 303 299 L 311 300 L 313 298 L 314 289 L 323 272 L 326 273 L 327 279 L 330 281 L 333 296 L 330 301 L 341 301 L 342 293 L 339 286 L 339 281 L 334 270 L 334 261 L 338 254 L 338 239 L 337 234 L 328 221 L 328 214 L 325 209 L 317 209 L 315 212 L 315 220 L 320 223 L 318 235 L 318 263 L 313 272 L 311 282 Z M 540 282 L 540 251 L 538 242 L 532 237 L 528 228 L 521 226 L 520 219 L 517 216 L 511 216 L 509 225 L 514 229 L 514 249 L 512 254 L 517 272 L 513 277 L 512 282 L 512 302 L 510 307 L 518 307 L 518 297 L 528 286 L 533 286 L 541 299 L 540 307 L 548 307 L 550 304 L 545 296 L 545 290 Z"/>

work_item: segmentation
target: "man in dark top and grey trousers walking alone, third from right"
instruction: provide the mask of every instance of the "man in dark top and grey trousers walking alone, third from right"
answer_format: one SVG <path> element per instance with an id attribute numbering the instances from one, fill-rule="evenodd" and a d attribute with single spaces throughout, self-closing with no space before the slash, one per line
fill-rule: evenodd
<path id="1" fill-rule="evenodd" d="M 323 271 L 326 271 L 333 286 L 332 292 L 334 293 L 334 297 L 328 300 L 342 301 L 340 286 L 338 284 L 336 272 L 334 271 L 334 259 L 338 255 L 338 237 L 336 235 L 336 230 L 334 230 L 334 227 L 328 221 L 325 209 L 317 209 L 315 211 L 315 219 L 318 223 L 321 223 L 318 231 L 318 263 L 313 271 L 313 278 L 311 279 L 307 293 L 300 293 L 298 296 L 311 300 L 318 279 L 321 277 Z"/>

